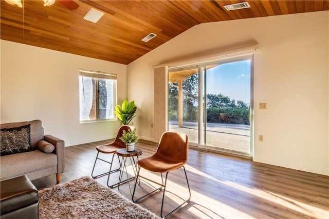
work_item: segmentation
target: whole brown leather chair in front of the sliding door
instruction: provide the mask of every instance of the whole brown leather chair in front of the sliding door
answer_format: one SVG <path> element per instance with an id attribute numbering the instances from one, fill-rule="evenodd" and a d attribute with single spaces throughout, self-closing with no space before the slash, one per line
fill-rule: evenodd
<path id="1" fill-rule="evenodd" d="M 158 145 L 157 151 L 155 154 L 153 154 L 150 157 L 143 158 L 138 161 L 139 169 L 135 181 L 135 187 L 134 187 L 134 192 L 133 192 L 133 197 L 132 200 L 134 203 L 139 202 L 140 200 L 144 199 L 145 197 L 153 194 L 156 191 L 160 191 L 163 187 L 163 195 L 162 195 L 162 204 L 161 204 L 161 211 L 160 211 L 160 216 L 162 216 L 162 209 L 163 209 L 163 201 L 165 200 L 165 192 L 166 192 L 166 185 L 167 185 L 167 178 L 168 178 L 168 173 L 173 170 L 177 170 L 179 168 L 184 169 L 185 177 L 186 177 L 186 182 L 187 186 L 189 189 L 189 198 L 184 201 L 181 205 L 179 205 L 177 208 L 175 208 L 173 211 L 168 213 L 164 218 L 167 218 L 170 216 L 172 213 L 177 211 L 182 205 L 190 201 L 191 198 L 191 190 L 189 186 L 189 181 L 187 178 L 186 170 L 184 165 L 187 163 L 188 159 L 188 136 L 186 134 L 181 134 L 178 132 L 165 132 L 162 134 L 160 143 Z M 147 177 L 141 176 L 140 175 L 140 170 L 141 168 L 147 169 L 152 172 L 158 172 L 161 174 L 161 180 L 162 183 L 155 182 L 153 180 L 150 180 Z M 163 184 L 163 177 L 162 173 L 166 173 L 166 179 L 165 183 Z M 135 196 L 135 191 L 136 191 L 136 186 L 139 184 L 140 178 L 143 178 L 145 180 L 151 181 L 157 185 L 160 185 L 161 187 L 153 190 L 152 192 L 143 195 L 142 197 L 137 198 L 134 200 Z M 183 198 L 181 198 L 184 200 Z"/>

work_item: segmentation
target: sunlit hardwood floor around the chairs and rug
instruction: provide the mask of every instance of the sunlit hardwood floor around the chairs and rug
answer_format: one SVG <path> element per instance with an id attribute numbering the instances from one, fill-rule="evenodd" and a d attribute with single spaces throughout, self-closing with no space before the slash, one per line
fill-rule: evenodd
<path id="1" fill-rule="evenodd" d="M 112 141 L 71 146 L 65 148 L 65 172 L 61 183 L 75 178 L 90 176 L 96 157 L 96 146 Z M 150 156 L 157 145 L 139 141 L 142 149 L 140 158 Z M 118 163 L 118 160 L 115 158 Z M 118 164 L 117 164 L 118 165 Z M 99 165 L 106 171 L 108 165 Z M 132 173 L 130 168 L 129 172 Z M 191 201 L 170 218 L 329 218 L 329 177 L 293 169 L 255 163 L 243 158 L 216 153 L 189 150 L 186 170 L 191 187 Z M 155 178 L 157 175 L 145 172 Z M 160 179 L 160 176 L 157 176 Z M 175 196 L 187 197 L 188 190 L 182 169 L 169 174 L 168 194 L 164 213 L 180 202 Z M 111 175 L 111 182 L 118 180 L 118 173 Z M 106 185 L 107 176 L 96 181 Z M 56 176 L 32 181 L 39 189 L 56 184 Z M 114 190 L 131 200 L 133 183 L 122 184 Z M 148 190 L 148 184 L 141 181 L 136 196 Z M 138 204 L 159 214 L 161 192 Z"/>

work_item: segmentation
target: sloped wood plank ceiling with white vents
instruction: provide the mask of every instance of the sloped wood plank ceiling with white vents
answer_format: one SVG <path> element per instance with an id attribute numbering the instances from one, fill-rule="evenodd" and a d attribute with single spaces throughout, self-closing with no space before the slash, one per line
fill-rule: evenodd
<path id="1" fill-rule="evenodd" d="M 22 0 L 21 0 L 22 1 Z M 224 5 L 248 2 L 227 11 Z M 43 1 L 1 4 L 1 39 L 129 64 L 194 25 L 329 10 L 329 1 Z M 71 7 L 77 7 L 77 9 Z M 105 14 L 85 21 L 90 8 Z M 141 39 L 157 36 L 148 43 Z"/>

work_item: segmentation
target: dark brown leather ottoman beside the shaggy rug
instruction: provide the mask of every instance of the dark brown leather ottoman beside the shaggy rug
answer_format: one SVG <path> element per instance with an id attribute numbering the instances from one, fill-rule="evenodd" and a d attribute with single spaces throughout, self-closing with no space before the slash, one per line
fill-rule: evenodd
<path id="1" fill-rule="evenodd" d="M 39 193 L 27 176 L 1 182 L 1 218 L 39 218 Z"/>

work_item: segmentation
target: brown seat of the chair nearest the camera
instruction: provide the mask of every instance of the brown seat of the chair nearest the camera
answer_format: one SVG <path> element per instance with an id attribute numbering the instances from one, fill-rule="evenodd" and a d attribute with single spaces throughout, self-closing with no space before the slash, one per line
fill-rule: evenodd
<path id="1" fill-rule="evenodd" d="M 159 173 L 166 173 L 172 170 L 176 170 L 184 166 L 186 163 L 187 161 L 170 160 L 158 153 L 138 161 L 138 165 L 142 168 Z"/>

